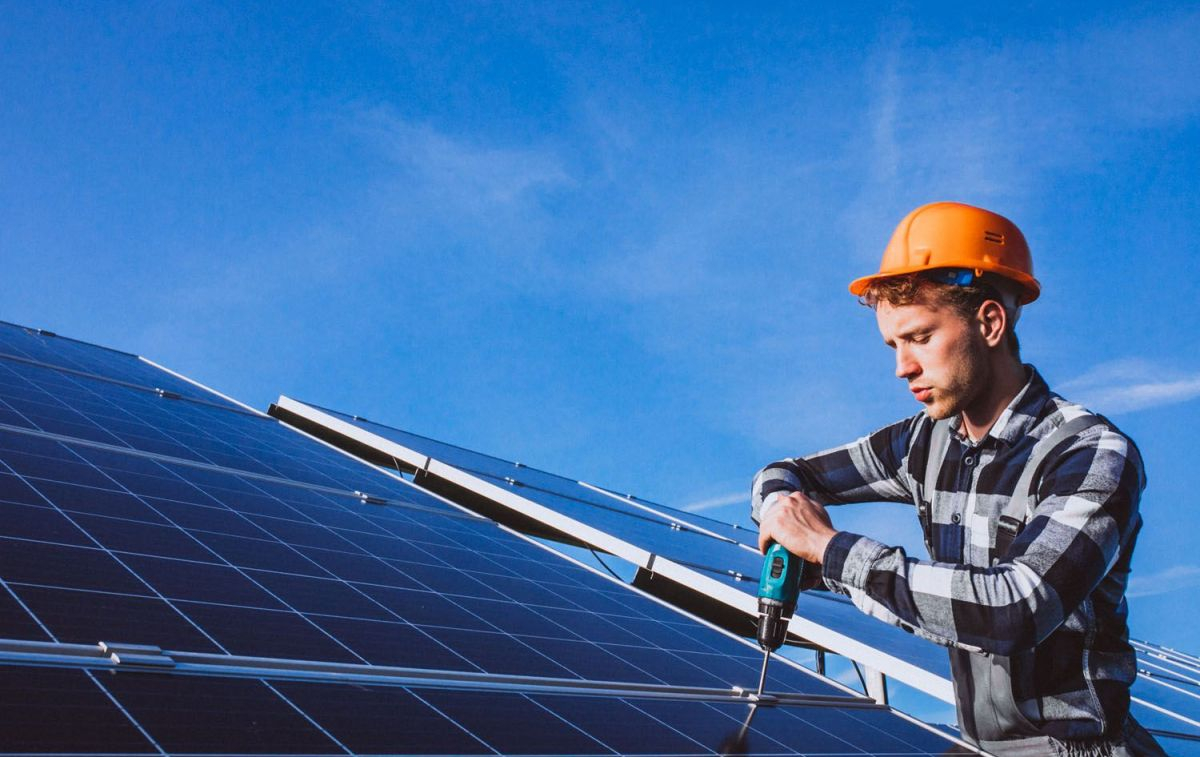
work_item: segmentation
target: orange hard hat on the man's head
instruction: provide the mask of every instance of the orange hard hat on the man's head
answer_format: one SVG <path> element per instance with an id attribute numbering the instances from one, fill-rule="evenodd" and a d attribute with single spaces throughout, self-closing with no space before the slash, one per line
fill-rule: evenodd
<path id="1" fill-rule="evenodd" d="M 856 278 L 850 292 L 862 295 L 880 278 L 935 269 L 1003 276 L 1020 289 L 1018 305 L 1037 300 L 1042 292 L 1033 278 L 1030 246 L 1016 224 L 962 203 L 930 203 L 905 216 L 883 251 L 880 272 Z"/>

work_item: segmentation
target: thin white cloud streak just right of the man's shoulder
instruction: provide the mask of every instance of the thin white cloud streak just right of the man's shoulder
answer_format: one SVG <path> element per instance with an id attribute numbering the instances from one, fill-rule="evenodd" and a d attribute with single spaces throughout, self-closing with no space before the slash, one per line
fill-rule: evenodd
<path id="1" fill-rule="evenodd" d="M 1104 362 L 1060 385 L 1064 396 L 1100 413 L 1128 413 L 1200 397 L 1200 373 L 1142 359 Z"/>

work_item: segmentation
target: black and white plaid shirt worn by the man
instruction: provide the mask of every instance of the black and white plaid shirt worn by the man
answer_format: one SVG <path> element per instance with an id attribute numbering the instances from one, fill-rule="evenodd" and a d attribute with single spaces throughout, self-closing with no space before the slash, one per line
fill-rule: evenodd
<path id="1" fill-rule="evenodd" d="M 1124 590 L 1141 527 L 1141 458 L 1106 421 L 1069 438 L 1045 459 L 1024 530 L 997 547 L 997 519 L 1033 445 L 1086 413 L 1026 371 L 1027 384 L 982 440 L 972 444 L 959 419 L 950 422 L 936 492 L 924 494 L 932 500 L 923 527 L 934 561 L 841 531 L 824 553 L 822 577 L 868 614 L 950 647 L 966 735 L 1112 737 L 1136 672 Z M 920 413 L 845 446 L 768 465 L 755 477 L 752 517 L 793 491 L 827 505 L 913 503 L 924 488 L 932 426 Z M 980 660 L 989 659 L 1010 673 L 1002 691 L 979 680 Z M 976 722 L 986 717 L 980 707 L 1006 702 L 1016 713 L 1002 733 Z"/>

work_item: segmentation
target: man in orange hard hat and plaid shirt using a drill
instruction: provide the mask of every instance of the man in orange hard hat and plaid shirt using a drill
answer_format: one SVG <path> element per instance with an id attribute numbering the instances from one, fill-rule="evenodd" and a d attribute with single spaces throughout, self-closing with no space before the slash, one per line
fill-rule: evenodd
<path id="1" fill-rule="evenodd" d="M 778 541 L 864 612 L 949 647 L 959 725 L 983 749 L 1162 755 L 1129 717 L 1141 458 L 1021 364 L 1013 326 L 1040 290 L 1021 232 L 970 205 L 918 208 L 850 289 L 924 409 L 760 471 L 760 547 Z M 932 561 L 834 529 L 824 505 L 854 501 L 913 503 Z"/>

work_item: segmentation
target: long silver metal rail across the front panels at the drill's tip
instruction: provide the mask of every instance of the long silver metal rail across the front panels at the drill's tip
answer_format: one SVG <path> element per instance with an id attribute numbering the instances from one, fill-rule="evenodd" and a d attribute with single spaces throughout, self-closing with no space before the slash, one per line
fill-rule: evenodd
<path id="1" fill-rule="evenodd" d="M 269 680 L 302 680 L 374 686 L 426 686 L 523 693 L 540 692 L 578 696 L 740 702 L 758 705 L 888 709 L 872 699 L 851 696 L 775 692 L 760 697 L 754 691 L 740 687 L 706 689 L 700 686 L 671 686 L 635 681 L 580 680 L 574 678 L 500 675 L 464 671 L 353 665 L 323 662 L 319 660 L 247 657 L 240 655 L 173 651 L 146 644 L 120 644 L 112 642 L 62 644 L 58 642 L 0 639 L 0 665 L 222 678 L 262 678 Z"/>

